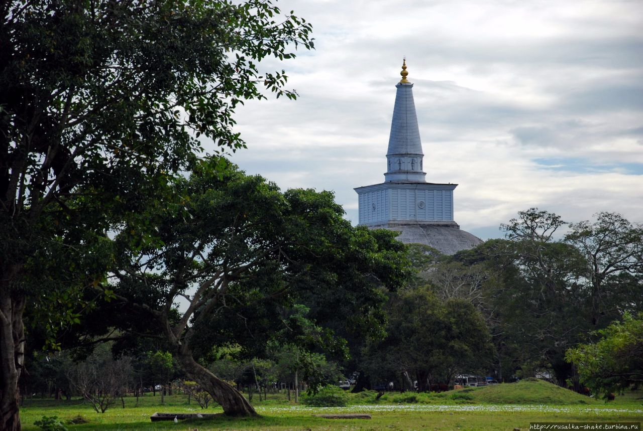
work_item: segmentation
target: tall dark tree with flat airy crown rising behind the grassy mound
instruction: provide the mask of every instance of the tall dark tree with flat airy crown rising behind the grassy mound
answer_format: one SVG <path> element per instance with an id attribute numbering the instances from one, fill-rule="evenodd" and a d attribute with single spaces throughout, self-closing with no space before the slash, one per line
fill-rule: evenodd
<path id="1" fill-rule="evenodd" d="M 520 211 L 501 227 L 507 242 L 497 242 L 492 261 L 502 274 L 494 298 L 498 326 L 494 330 L 499 352 L 511 353 L 514 367 L 553 369 L 565 384 L 571 369 L 565 350 L 586 331 L 583 308 L 583 256 L 557 240 L 566 223 L 560 216 L 537 208 Z M 530 371 L 527 371 L 530 373 Z"/>

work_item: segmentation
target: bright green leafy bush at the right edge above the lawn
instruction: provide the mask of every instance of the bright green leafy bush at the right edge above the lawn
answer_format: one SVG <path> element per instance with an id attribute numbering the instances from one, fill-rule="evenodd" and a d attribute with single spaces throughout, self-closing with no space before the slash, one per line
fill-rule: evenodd
<path id="1" fill-rule="evenodd" d="M 597 331 L 599 340 L 568 349 L 566 360 L 574 363 L 581 382 L 606 397 L 643 383 L 643 313 L 625 313 Z"/>

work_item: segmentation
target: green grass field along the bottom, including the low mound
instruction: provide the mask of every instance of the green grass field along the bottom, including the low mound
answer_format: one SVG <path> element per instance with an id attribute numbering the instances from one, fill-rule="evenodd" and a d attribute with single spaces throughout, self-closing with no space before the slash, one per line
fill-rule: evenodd
<path id="1" fill-rule="evenodd" d="M 460 395 L 457 395 L 460 394 Z M 545 382 L 507 383 L 480 389 L 461 389 L 442 394 L 396 394 L 383 396 L 377 403 L 374 392 L 352 396 L 347 407 L 303 407 L 289 403 L 285 394 L 269 394 L 267 401 L 253 403 L 260 418 L 152 423 L 154 412 L 221 412 L 220 408 L 201 410 L 187 404 L 182 395 L 125 398 L 119 405 L 97 414 L 82 400 L 27 400 L 21 410 L 24 430 L 38 430 L 34 421 L 42 416 L 58 416 L 65 423 L 77 416 L 88 422 L 66 425 L 69 430 L 528 430 L 538 421 L 635 421 L 643 420 L 642 392 L 628 392 L 610 403 L 579 396 Z M 415 398 L 413 398 L 415 396 Z M 511 400 L 516 400 L 511 402 Z M 406 401 L 406 402 L 404 402 Z M 314 414 L 370 413 L 372 419 L 322 419 Z"/>

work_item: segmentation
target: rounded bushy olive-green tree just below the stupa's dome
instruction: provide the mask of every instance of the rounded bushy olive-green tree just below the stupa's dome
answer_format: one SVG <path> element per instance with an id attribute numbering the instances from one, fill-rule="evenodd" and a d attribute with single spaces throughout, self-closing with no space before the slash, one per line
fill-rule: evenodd
<path id="1" fill-rule="evenodd" d="M 485 322 L 465 299 L 444 301 L 419 286 L 392 295 L 387 311 L 386 338 L 368 348 L 372 376 L 389 381 L 406 372 L 417 380 L 419 391 L 427 391 L 429 380 L 448 382 L 491 362 Z"/>

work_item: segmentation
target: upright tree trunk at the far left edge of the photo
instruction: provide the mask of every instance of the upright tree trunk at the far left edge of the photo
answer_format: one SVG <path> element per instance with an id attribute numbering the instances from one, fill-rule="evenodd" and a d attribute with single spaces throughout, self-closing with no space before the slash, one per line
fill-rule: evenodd
<path id="1" fill-rule="evenodd" d="M 25 298 L 12 295 L 7 268 L 0 272 L 0 430 L 21 429 L 18 381 L 24 364 Z M 11 271 L 13 272 L 13 271 Z"/>

